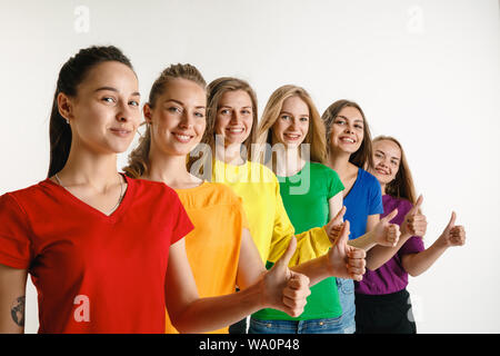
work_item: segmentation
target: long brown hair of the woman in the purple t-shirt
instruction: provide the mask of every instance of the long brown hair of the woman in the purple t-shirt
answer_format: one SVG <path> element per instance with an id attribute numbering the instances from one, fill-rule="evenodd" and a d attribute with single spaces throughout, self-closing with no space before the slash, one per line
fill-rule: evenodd
<path id="1" fill-rule="evenodd" d="M 410 167 L 408 166 L 408 160 L 402 149 L 401 144 L 391 136 L 378 136 L 372 142 L 389 140 L 398 145 L 401 151 L 401 160 L 399 164 L 398 172 L 396 178 L 386 185 L 386 194 L 394 198 L 403 198 L 410 200 L 411 204 L 417 202 L 417 195 L 413 185 L 413 178 L 411 177 Z"/>

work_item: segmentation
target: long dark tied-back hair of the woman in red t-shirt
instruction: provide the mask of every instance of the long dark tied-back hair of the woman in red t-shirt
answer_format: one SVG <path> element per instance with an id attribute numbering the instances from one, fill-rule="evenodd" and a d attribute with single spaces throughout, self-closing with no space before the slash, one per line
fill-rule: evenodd
<path id="1" fill-rule="evenodd" d="M 48 177 L 52 177 L 64 167 L 71 149 L 71 127 L 59 112 L 58 96 L 62 92 L 68 97 L 76 97 L 77 87 L 84 80 L 90 69 L 106 61 L 118 61 L 133 70 L 130 60 L 117 47 L 92 46 L 81 49 L 59 71 L 49 123 L 50 164 Z"/>

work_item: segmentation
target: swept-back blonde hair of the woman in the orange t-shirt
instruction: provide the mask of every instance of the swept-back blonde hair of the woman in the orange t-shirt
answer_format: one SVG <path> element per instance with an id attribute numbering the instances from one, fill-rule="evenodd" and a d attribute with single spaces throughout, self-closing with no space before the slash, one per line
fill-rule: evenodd
<path id="1" fill-rule="evenodd" d="M 151 108 L 154 108 L 158 97 L 160 97 L 169 82 L 174 79 L 186 79 L 196 82 L 203 90 L 207 82 L 201 76 L 200 71 L 191 65 L 171 65 L 166 68 L 160 77 L 154 81 L 149 92 L 149 101 L 147 102 Z M 146 122 L 143 122 L 146 123 Z M 149 171 L 149 151 L 151 149 L 151 128 L 146 126 L 146 131 L 139 139 L 139 145 L 129 155 L 128 166 L 123 167 L 127 176 L 132 178 L 140 178 Z"/>

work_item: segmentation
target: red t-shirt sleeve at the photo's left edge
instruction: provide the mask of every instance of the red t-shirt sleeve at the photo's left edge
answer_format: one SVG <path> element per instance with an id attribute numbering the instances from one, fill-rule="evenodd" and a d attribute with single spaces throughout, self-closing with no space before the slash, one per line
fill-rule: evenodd
<path id="1" fill-rule="evenodd" d="M 28 217 L 10 194 L 0 197 L 0 264 L 28 269 L 31 256 Z"/>

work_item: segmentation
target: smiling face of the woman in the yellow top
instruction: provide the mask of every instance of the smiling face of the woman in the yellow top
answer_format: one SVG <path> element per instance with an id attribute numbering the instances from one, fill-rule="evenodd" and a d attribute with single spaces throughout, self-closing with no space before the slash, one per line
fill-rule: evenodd
<path id="1" fill-rule="evenodd" d="M 231 90 L 219 100 L 216 134 L 224 139 L 224 146 L 241 145 L 250 136 L 253 122 L 253 106 L 244 90 Z"/>

